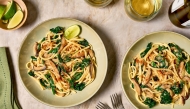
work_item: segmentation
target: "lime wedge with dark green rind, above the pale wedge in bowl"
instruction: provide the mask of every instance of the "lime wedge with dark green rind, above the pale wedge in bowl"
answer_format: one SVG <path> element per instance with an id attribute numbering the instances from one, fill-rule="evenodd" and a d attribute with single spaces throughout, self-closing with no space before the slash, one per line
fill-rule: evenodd
<path id="1" fill-rule="evenodd" d="M 16 13 L 16 4 L 14 1 L 10 1 L 7 3 L 5 14 L 3 15 L 3 20 L 8 20 L 14 16 Z"/>

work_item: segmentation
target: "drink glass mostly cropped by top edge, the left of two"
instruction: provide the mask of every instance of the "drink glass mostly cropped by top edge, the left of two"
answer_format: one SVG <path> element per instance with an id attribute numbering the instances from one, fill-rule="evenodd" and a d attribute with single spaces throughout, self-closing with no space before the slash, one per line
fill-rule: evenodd
<path id="1" fill-rule="evenodd" d="M 100 8 L 103 8 L 112 2 L 112 0 L 85 0 L 85 1 L 91 6 L 100 7 Z"/>

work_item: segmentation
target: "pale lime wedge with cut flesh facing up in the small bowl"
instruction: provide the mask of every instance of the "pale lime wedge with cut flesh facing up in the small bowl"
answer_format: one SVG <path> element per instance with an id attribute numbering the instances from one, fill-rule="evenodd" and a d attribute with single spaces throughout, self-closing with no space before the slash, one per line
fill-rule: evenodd
<path id="1" fill-rule="evenodd" d="M 20 24 L 24 17 L 24 14 L 21 10 L 18 10 L 15 15 L 12 17 L 12 19 L 9 21 L 7 28 L 14 28 Z"/>

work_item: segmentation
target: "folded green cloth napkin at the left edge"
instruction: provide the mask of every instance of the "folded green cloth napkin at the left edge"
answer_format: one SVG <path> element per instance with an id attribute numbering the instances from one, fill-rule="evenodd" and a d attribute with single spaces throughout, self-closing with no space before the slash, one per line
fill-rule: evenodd
<path id="1" fill-rule="evenodd" d="M 6 48 L 0 47 L 0 109 L 21 109 L 13 85 Z"/>

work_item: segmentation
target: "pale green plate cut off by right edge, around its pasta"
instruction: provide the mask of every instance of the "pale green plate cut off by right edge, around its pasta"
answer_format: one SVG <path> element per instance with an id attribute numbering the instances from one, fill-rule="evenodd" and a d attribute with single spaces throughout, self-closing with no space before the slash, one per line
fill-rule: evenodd
<path id="1" fill-rule="evenodd" d="M 190 49 L 189 49 L 190 40 L 181 34 L 169 32 L 169 31 L 160 31 L 160 32 L 154 32 L 154 33 L 145 35 L 129 48 L 129 50 L 127 51 L 123 59 L 123 63 L 121 66 L 121 74 L 120 74 L 121 84 L 122 84 L 122 89 L 125 96 L 132 103 L 132 105 L 137 109 L 147 109 L 148 107 L 144 106 L 143 104 L 137 101 L 135 97 L 136 96 L 135 92 L 130 88 L 131 82 L 128 78 L 128 64 L 140 52 L 140 50 L 146 48 L 149 42 L 162 42 L 162 43 L 174 42 L 190 54 Z M 189 100 L 186 101 L 184 106 L 174 105 L 174 109 L 189 109 L 189 107 L 190 107 Z M 171 105 L 167 105 L 167 106 L 157 105 L 151 109 L 170 109 L 170 108 L 171 108 Z"/>

